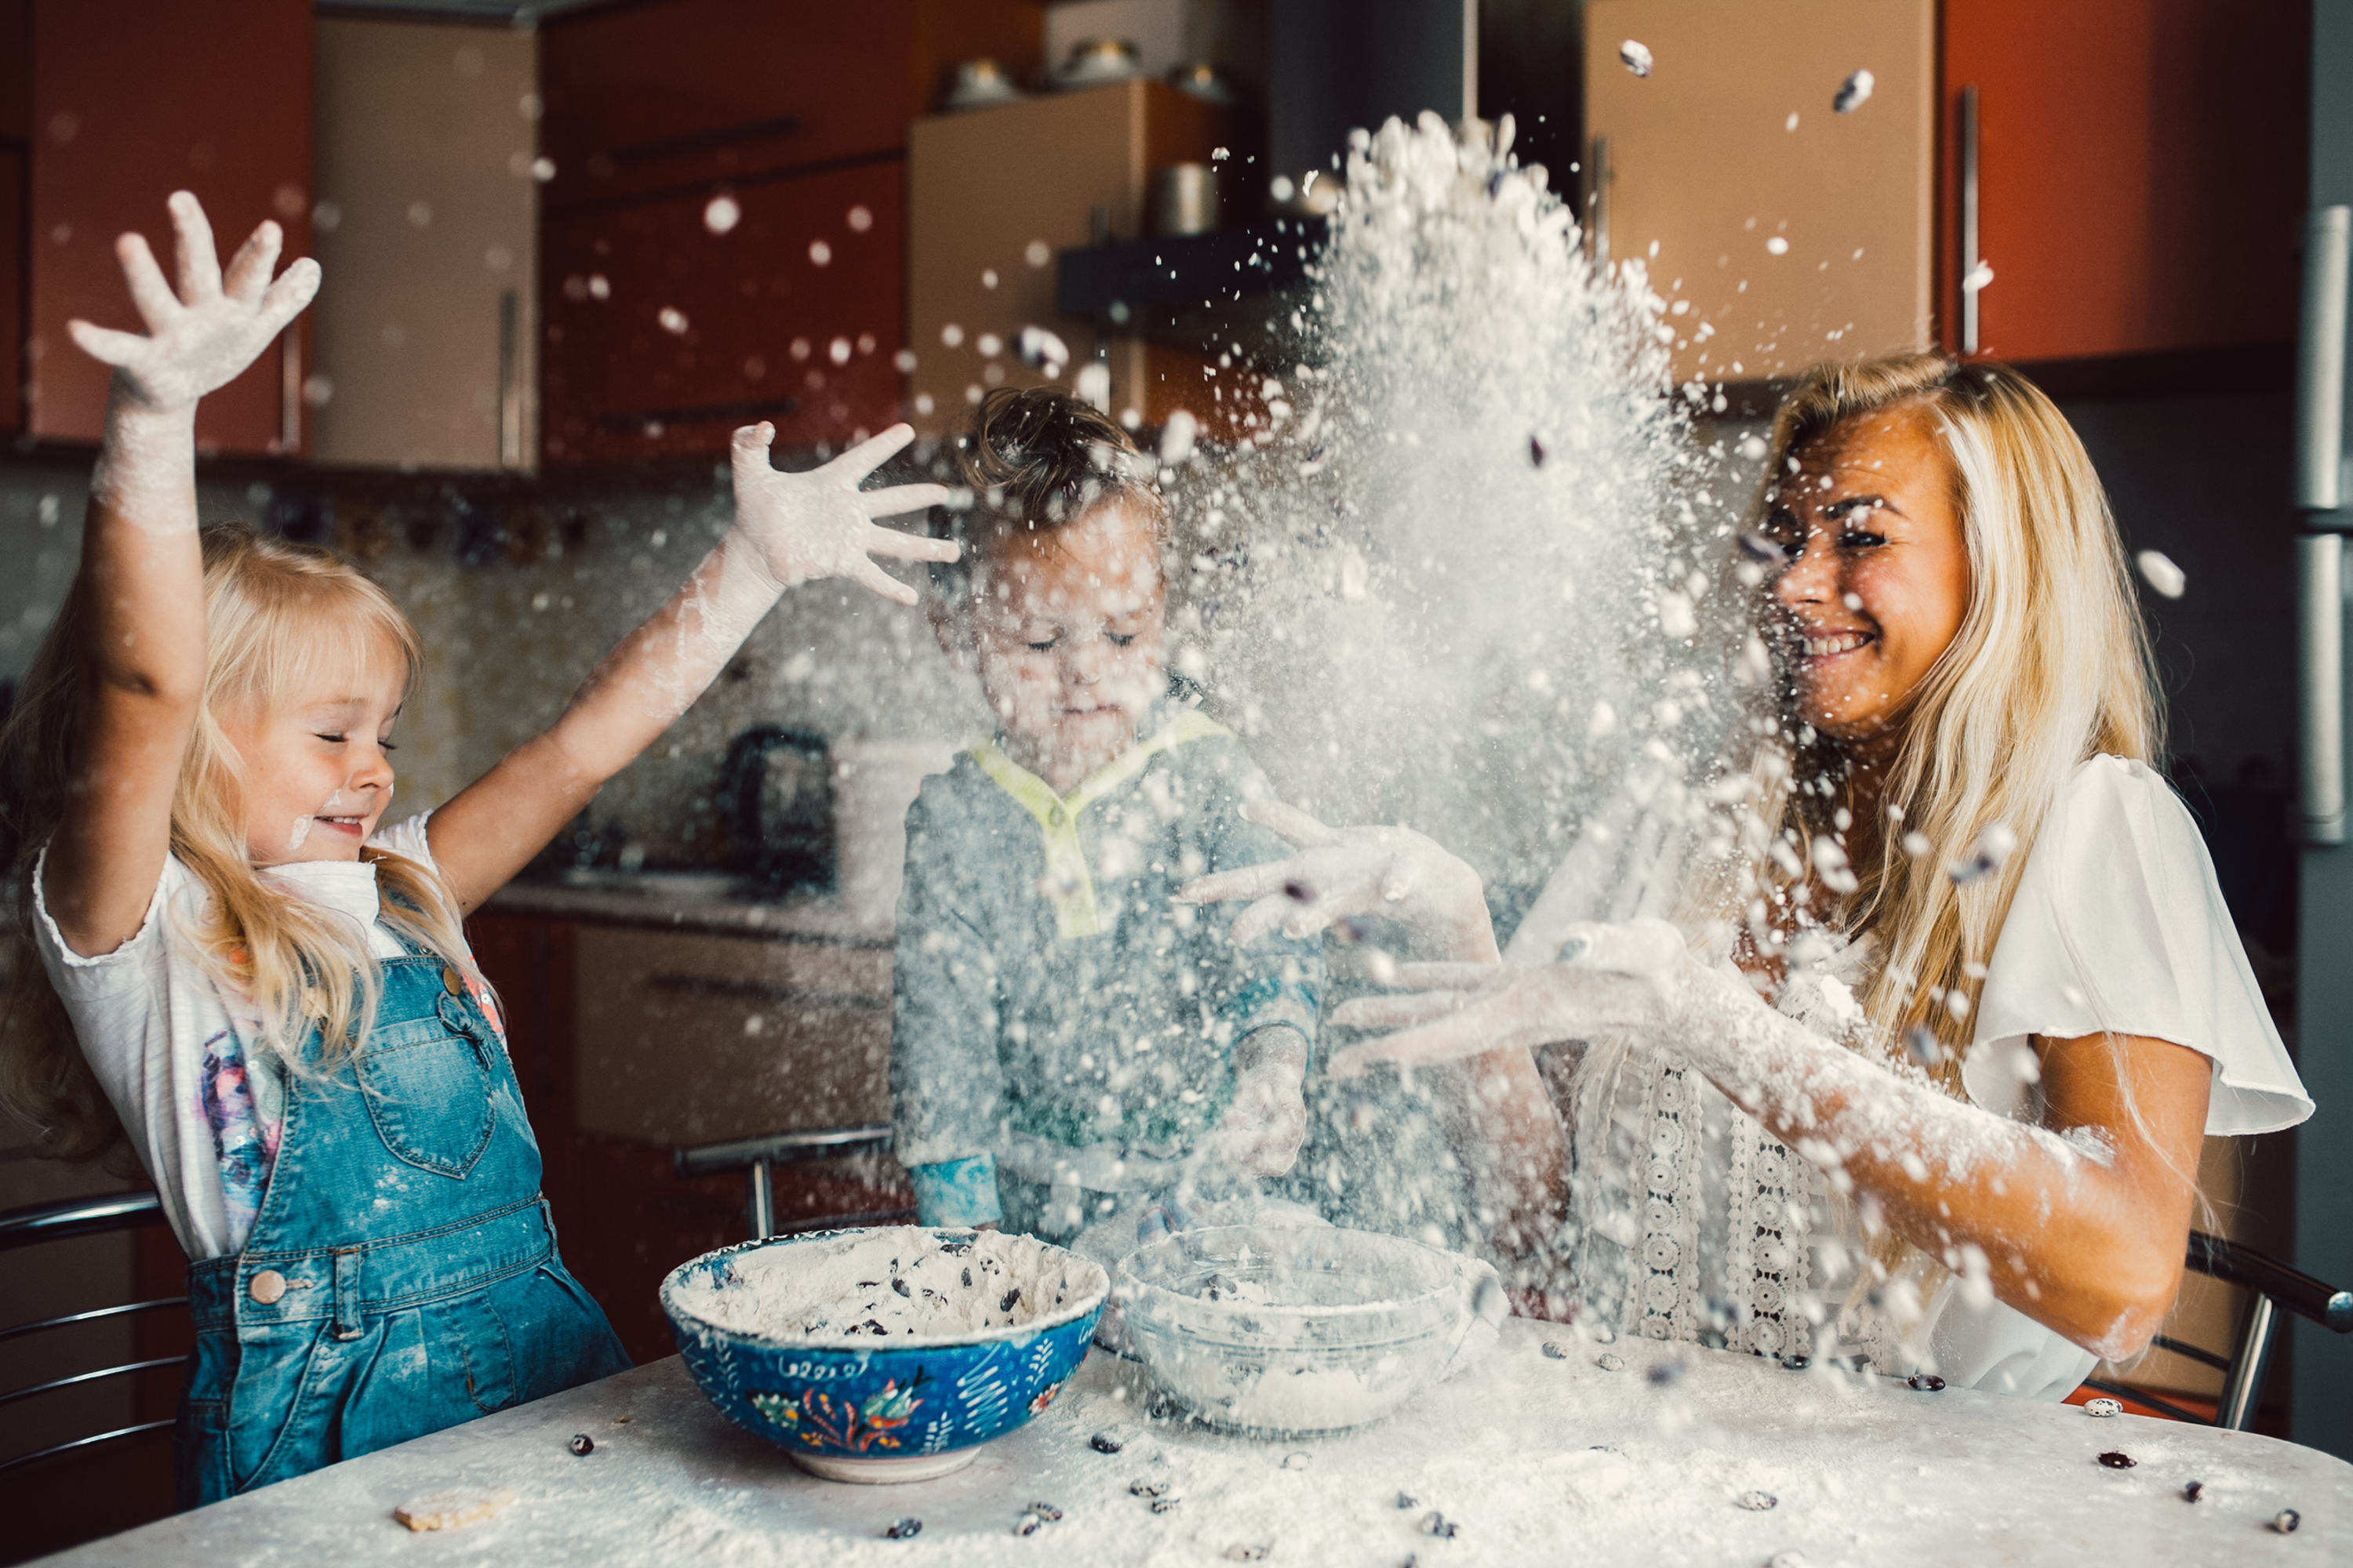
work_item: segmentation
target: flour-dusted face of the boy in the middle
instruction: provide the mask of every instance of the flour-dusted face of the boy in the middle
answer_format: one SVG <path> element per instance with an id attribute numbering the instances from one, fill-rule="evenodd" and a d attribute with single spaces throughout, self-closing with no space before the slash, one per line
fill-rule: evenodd
<path id="1" fill-rule="evenodd" d="M 1132 505 L 1000 545 L 967 614 L 1007 755 L 1068 792 L 1125 752 L 1165 689 L 1165 611 L 1160 538 Z"/>

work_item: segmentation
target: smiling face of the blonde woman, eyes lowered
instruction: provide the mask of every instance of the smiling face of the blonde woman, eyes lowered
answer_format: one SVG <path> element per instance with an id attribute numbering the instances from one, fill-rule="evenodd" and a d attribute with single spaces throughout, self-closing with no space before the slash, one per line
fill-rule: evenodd
<path id="1" fill-rule="evenodd" d="M 1791 458 L 1765 531 L 1798 712 L 1835 741 L 1880 733 L 1969 614 L 1960 484 L 1937 411 L 1845 418 Z"/>

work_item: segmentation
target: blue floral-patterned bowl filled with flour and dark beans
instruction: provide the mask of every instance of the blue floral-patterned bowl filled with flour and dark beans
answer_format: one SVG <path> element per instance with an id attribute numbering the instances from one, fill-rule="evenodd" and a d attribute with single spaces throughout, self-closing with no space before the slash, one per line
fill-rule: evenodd
<path id="1" fill-rule="evenodd" d="M 856 1274 L 875 1288 L 845 1298 Z M 901 1276 L 929 1321 L 885 1328 L 868 1312 L 896 1305 L 882 1286 Z M 661 1281 L 661 1309 L 720 1415 L 802 1469 L 925 1481 L 1054 1401 L 1108 1293 L 1101 1265 L 1033 1237 L 892 1225 L 704 1253 Z"/>

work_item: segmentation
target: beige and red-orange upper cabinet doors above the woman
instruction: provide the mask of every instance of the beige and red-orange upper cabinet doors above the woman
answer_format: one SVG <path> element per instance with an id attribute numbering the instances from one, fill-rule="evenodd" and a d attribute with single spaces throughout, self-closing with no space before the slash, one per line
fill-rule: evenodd
<path id="1" fill-rule="evenodd" d="M 1595 0 L 1591 242 L 1675 301 L 1678 378 L 2285 343 L 2306 24 L 2294 0 Z M 1835 113 L 1859 68 L 1871 96 Z"/>

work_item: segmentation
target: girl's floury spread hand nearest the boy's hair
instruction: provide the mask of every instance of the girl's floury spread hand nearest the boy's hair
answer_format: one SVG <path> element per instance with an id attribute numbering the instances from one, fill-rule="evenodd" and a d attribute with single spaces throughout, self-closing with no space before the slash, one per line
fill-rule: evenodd
<path id="1" fill-rule="evenodd" d="M 948 498 L 944 484 L 894 484 L 859 489 L 859 482 L 915 440 L 906 425 L 859 442 L 824 468 L 781 473 L 769 465 L 767 449 L 776 425 L 744 425 L 734 433 L 736 531 L 741 531 L 779 588 L 821 576 L 845 576 L 873 588 L 885 599 L 913 604 L 915 590 L 875 567 L 868 557 L 889 555 L 901 562 L 953 562 L 955 545 L 946 538 L 901 534 L 875 527 L 875 517 L 894 517 L 939 505 Z"/>

